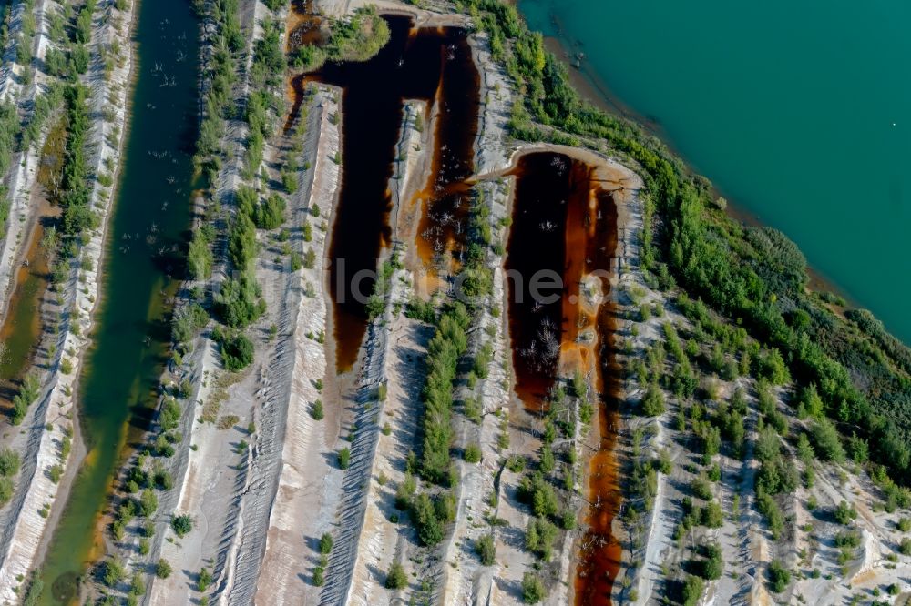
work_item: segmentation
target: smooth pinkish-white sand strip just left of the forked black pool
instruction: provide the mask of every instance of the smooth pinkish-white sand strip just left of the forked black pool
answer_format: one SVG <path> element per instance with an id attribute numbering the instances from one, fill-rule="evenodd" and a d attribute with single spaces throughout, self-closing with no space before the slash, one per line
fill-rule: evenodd
<path id="1" fill-rule="evenodd" d="M 330 158 L 340 149 L 341 134 L 329 116 L 338 111 L 335 90 L 320 93 L 312 110 L 318 114 L 319 151 L 315 154 L 312 171 L 315 175 L 308 207 L 318 205 L 321 217 L 333 217 L 340 167 Z M 313 248 L 317 258 L 326 254 L 328 235 L 313 229 Z M 310 576 L 318 551 L 313 546 L 323 532 L 330 531 L 336 522 L 342 471 L 335 464 L 334 452 L 337 428 L 330 421 L 312 418 L 312 404 L 322 399 L 314 381 L 327 373 L 326 348 L 306 335 L 327 331 L 325 272 L 321 265 L 303 270 L 304 280 L 314 287 L 314 298 L 302 298 L 296 313 L 294 331 L 294 362 L 291 375 L 291 397 L 288 403 L 287 424 L 281 451 L 281 475 L 278 492 L 271 506 L 269 530 L 260 578 L 256 585 L 257 603 L 285 604 L 316 601 L 319 590 L 312 586 Z M 302 511 L 308 515 L 301 516 Z"/>

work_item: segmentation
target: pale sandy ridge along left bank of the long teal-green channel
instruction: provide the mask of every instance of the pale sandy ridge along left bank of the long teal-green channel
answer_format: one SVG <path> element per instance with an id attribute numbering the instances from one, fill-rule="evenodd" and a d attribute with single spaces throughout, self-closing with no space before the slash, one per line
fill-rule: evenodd
<path id="1" fill-rule="evenodd" d="M 93 61 L 89 68 L 86 78 L 87 84 L 91 86 L 91 96 L 89 106 L 92 110 L 93 126 L 90 133 L 90 141 L 93 144 L 94 153 L 88 158 L 90 167 L 96 173 L 102 172 L 104 160 L 107 157 L 113 157 L 115 164 L 118 166 L 120 150 L 123 146 L 124 133 L 126 131 L 126 106 L 128 83 L 131 73 L 132 49 L 129 44 L 130 24 L 132 18 L 132 3 L 128 3 L 128 9 L 119 17 L 122 21 L 120 29 L 116 29 L 112 21 L 105 23 L 100 19 L 103 12 L 99 9 L 95 15 L 95 25 L 90 43 L 91 52 L 97 56 L 98 45 L 110 44 L 112 40 L 118 40 L 124 53 L 124 60 L 116 62 L 113 76 L 110 82 L 104 78 L 103 66 L 97 61 Z M 114 11 L 117 15 L 118 11 Z M 128 49 L 128 50 L 127 50 Z M 109 105 L 107 101 L 108 93 L 113 90 L 119 99 L 115 109 L 115 118 L 113 122 L 107 123 L 101 119 L 101 108 Z M 114 128 L 119 128 L 118 139 L 113 141 L 115 146 L 111 146 L 111 141 L 107 136 Z M 105 171 L 107 172 L 107 171 Z M 116 181 L 116 178 L 115 178 Z M 35 565 L 40 555 L 42 540 L 49 538 L 48 522 L 56 520 L 59 513 L 58 509 L 62 507 L 62 501 L 56 499 L 59 496 L 60 487 L 50 480 L 47 469 L 51 466 L 61 463 L 72 468 L 75 466 L 75 456 L 70 454 L 68 461 L 61 461 L 59 457 L 60 437 L 59 430 L 63 427 L 70 427 L 70 421 L 63 419 L 73 419 L 75 414 L 73 410 L 74 395 L 76 393 L 75 381 L 79 375 L 79 370 L 83 361 L 83 354 L 88 348 L 89 338 L 92 328 L 92 316 L 96 308 L 96 301 L 100 298 L 100 277 L 98 268 L 102 267 L 102 257 L 104 253 L 104 242 L 107 234 L 107 220 L 110 216 L 110 207 L 112 192 L 107 187 L 102 187 L 97 181 L 94 183 L 92 191 L 92 203 L 102 217 L 101 226 L 90 234 L 90 239 L 83 247 L 82 255 L 84 258 L 91 260 L 91 269 L 79 268 L 77 276 L 71 278 L 70 286 L 66 288 L 65 299 L 72 300 L 72 305 L 79 310 L 80 324 L 79 335 L 75 334 L 71 324 L 65 324 L 61 334 L 61 342 L 58 347 L 56 364 L 63 358 L 72 362 L 72 371 L 67 375 L 60 371 L 56 366 L 48 379 L 50 387 L 49 393 L 43 395 L 41 399 L 33 404 L 36 408 L 36 415 L 46 415 L 41 419 L 40 424 L 36 422 L 36 428 L 42 427 L 46 422 L 55 423 L 55 431 L 43 431 L 38 435 L 38 430 L 33 431 L 29 438 L 29 449 L 26 451 L 26 461 L 36 459 L 33 464 L 25 462 L 23 471 L 31 470 L 33 475 L 26 481 L 24 476 L 20 476 L 19 481 L 23 482 L 27 488 L 21 500 L 16 500 L 18 504 L 17 517 L 10 520 L 9 525 L 5 527 L 5 538 L 3 540 L 4 552 L 0 556 L 2 567 L 0 567 L 0 600 L 15 600 L 13 588 L 18 583 L 17 579 L 24 578 L 27 572 Z M 71 299 L 72 298 L 72 299 Z M 53 419 L 53 420 L 52 420 Z M 35 419 L 38 421 L 38 419 Z M 78 452 L 79 449 L 74 449 Z M 68 464 L 67 464 L 68 463 Z M 53 505 L 53 510 L 48 518 L 38 515 L 38 510 L 42 509 L 46 503 Z"/>

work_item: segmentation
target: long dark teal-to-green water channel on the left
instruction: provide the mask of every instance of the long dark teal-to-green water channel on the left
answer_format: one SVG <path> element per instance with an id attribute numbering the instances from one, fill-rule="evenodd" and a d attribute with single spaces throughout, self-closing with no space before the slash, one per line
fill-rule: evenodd
<path id="1" fill-rule="evenodd" d="M 80 377 L 88 455 L 42 566 L 43 604 L 74 601 L 78 578 L 101 553 L 99 512 L 155 402 L 169 336 L 165 298 L 182 277 L 189 239 L 199 79 L 198 23 L 189 2 L 138 2 L 135 38 L 135 85 L 103 298 Z"/>

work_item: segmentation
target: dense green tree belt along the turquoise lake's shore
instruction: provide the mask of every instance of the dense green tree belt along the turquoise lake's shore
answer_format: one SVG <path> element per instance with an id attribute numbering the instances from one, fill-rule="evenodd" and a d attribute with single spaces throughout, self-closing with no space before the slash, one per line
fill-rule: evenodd
<path id="1" fill-rule="evenodd" d="M 464 0 L 489 32 L 526 103 L 514 106 L 513 136 L 570 145 L 608 146 L 640 167 L 646 198 L 642 267 L 660 288 L 679 284 L 746 328 L 769 351 L 764 373 L 815 384 L 824 415 L 871 445 L 870 458 L 907 482 L 911 449 L 911 376 L 907 349 L 863 313 L 841 318 L 806 289 L 805 261 L 786 237 L 742 227 L 714 204 L 710 184 L 693 177 L 654 137 L 582 101 L 566 66 L 543 50 L 515 8 Z M 777 357 L 781 357 L 781 364 Z"/>

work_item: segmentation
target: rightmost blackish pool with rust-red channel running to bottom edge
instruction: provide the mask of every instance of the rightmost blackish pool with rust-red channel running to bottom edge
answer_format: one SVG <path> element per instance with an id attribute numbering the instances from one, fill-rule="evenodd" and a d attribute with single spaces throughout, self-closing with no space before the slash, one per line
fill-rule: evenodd
<path id="1" fill-rule="evenodd" d="M 581 543 L 575 593 L 579 606 L 606 605 L 621 551 L 611 533 L 620 500 L 614 458 L 619 409 L 616 318 L 609 296 L 600 300 L 586 291 L 609 295 L 617 207 L 599 186 L 594 167 L 562 154 L 527 154 L 512 174 L 516 189 L 506 267 L 522 277 L 509 281 L 517 395 L 529 412 L 540 413 L 558 376 L 576 369 L 594 375 L 599 441 L 589 460 L 588 530 Z M 562 288 L 542 290 L 545 297 L 536 300 L 531 278 L 541 270 L 559 276 Z"/>

